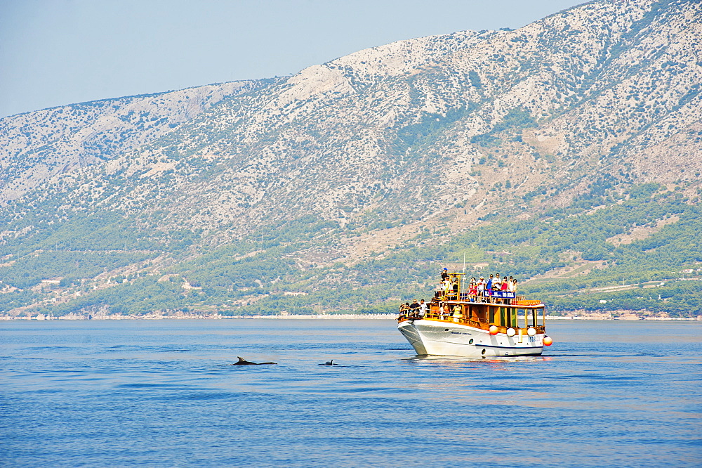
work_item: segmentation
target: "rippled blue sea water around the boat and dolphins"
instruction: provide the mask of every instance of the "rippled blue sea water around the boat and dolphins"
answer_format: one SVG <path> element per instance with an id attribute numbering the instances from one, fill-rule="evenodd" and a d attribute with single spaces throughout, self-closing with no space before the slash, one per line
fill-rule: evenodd
<path id="1" fill-rule="evenodd" d="M 471 361 L 392 320 L 1 322 L 0 464 L 701 466 L 702 323 L 547 327 Z"/>

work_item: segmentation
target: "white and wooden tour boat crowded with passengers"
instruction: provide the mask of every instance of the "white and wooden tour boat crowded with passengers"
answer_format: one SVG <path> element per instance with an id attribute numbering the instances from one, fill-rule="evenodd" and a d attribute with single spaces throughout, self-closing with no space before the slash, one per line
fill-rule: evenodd
<path id="1" fill-rule="evenodd" d="M 453 287 L 437 291 L 423 315 L 401 313 L 397 328 L 420 356 L 541 356 L 553 340 L 546 334 L 545 305 L 516 292 L 483 297 L 463 290 L 465 273 L 449 273 Z"/>

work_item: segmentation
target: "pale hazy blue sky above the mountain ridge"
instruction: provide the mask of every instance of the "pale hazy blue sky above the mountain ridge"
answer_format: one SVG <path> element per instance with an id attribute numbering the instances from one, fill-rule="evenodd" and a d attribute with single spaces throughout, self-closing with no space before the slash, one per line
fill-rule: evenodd
<path id="1" fill-rule="evenodd" d="M 516 29 L 583 0 L 0 0 L 0 117 L 294 74 L 362 48 Z"/>

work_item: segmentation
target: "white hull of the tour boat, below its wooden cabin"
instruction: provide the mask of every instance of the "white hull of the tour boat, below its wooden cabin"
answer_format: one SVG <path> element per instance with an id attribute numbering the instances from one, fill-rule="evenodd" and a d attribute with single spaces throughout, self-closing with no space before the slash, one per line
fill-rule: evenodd
<path id="1" fill-rule="evenodd" d="M 397 328 L 420 356 L 539 356 L 545 336 L 530 337 L 526 330 L 513 337 L 505 333 L 491 335 L 487 330 L 468 325 L 423 319 L 406 320 Z"/>

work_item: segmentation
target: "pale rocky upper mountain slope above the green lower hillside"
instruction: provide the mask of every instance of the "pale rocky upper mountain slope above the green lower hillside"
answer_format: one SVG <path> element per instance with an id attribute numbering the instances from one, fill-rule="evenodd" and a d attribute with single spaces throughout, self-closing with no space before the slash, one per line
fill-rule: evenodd
<path id="1" fill-rule="evenodd" d="M 344 268 L 419 240 L 451 245 L 481 238 L 489 220 L 550 219 L 553 209 L 588 214 L 638 200 L 646 183 L 658 184 L 651 197 L 674 191 L 696 207 L 701 20 L 696 1 L 592 1 L 519 30 L 399 41 L 288 78 L 1 119 L 2 238 L 7 259 L 18 257 L 7 268 L 20 268 L 22 249 L 92 252 L 113 237 L 100 248 L 152 252 L 147 266 L 117 262 L 133 275 L 193 276 L 187 262 L 223 252 L 239 263 L 282 255 L 280 274 L 224 287 L 226 300 L 255 302 L 271 288 L 317 294 L 300 283 L 310 268 L 342 285 L 355 275 Z M 645 223 L 667 226 L 676 213 Z M 73 234 L 93 218 L 100 242 Z M 478 250 L 478 263 L 502 260 Z M 107 280 L 126 271 L 102 270 Z M 248 287 L 258 290 L 235 293 Z"/>

